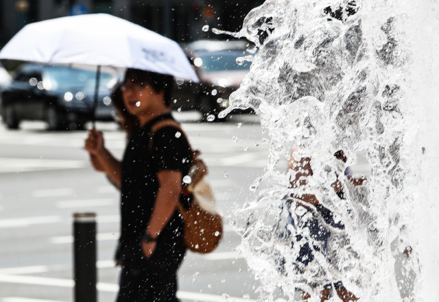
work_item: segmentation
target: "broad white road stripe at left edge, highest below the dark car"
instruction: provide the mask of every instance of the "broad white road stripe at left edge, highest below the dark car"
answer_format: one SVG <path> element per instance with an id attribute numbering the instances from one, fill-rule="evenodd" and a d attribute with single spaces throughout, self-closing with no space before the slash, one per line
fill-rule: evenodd
<path id="1" fill-rule="evenodd" d="M 0 158 L 0 173 L 62 170 L 84 168 L 89 164 L 82 160 L 45 160 L 31 158 Z"/>

